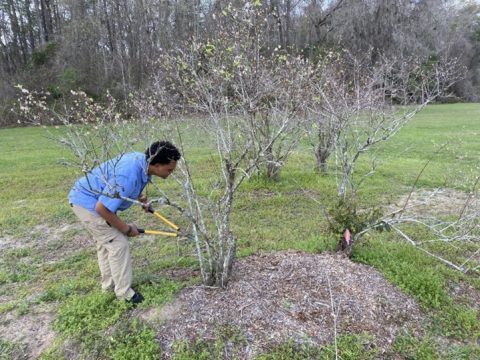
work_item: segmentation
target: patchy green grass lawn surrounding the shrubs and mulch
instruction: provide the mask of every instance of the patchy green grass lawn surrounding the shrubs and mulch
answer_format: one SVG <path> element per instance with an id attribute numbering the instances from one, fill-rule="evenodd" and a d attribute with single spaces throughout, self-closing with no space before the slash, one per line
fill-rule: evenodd
<path id="1" fill-rule="evenodd" d="M 85 243 L 85 232 L 76 225 L 67 202 L 78 173 L 61 165 L 69 154 L 47 135 L 43 128 L 0 130 L 0 326 L 46 309 L 55 313 L 51 319 L 55 341 L 42 349 L 42 359 L 65 358 L 69 344 L 81 349 L 84 358 L 133 359 L 139 353 L 145 359 L 156 358 L 160 348 L 154 326 L 131 319 L 128 306 L 98 289 L 95 251 Z M 427 161 L 418 188 L 469 191 L 480 175 L 479 135 L 480 104 L 429 106 L 390 142 L 375 149 L 379 165 L 363 184 L 361 201 L 380 206 L 397 200 L 409 192 Z M 200 168 L 208 151 L 205 142 L 196 144 L 191 160 Z M 359 164 L 360 170 L 368 170 L 367 160 Z M 279 183 L 254 177 L 242 185 L 232 215 L 239 256 L 286 249 L 335 250 L 336 239 L 327 231 L 321 207 L 306 196 L 332 206 L 335 178 L 313 169 L 313 152 L 303 144 L 289 159 Z M 167 180 L 165 185 L 168 191 L 178 191 L 173 181 Z M 127 216 L 147 221 L 139 209 L 129 210 Z M 417 236 L 421 240 L 422 233 Z M 195 273 L 197 265 L 190 249 L 173 240 L 137 238 L 132 241 L 132 252 L 135 282 L 148 299 L 142 309 L 160 307 L 181 288 L 198 282 L 194 275 L 161 276 L 165 269 Z M 478 274 L 455 272 L 393 233 L 372 234 L 354 248 L 352 258 L 375 267 L 428 314 L 421 338 L 408 332 L 398 337 L 393 346 L 398 358 L 480 358 L 478 306 L 449 292 L 454 284 L 468 285 L 480 294 Z M 108 337 L 102 335 L 105 332 Z M 351 347 L 352 354 L 361 354 L 354 349 L 358 344 L 345 339 L 345 349 Z M 292 346 L 285 344 L 260 358 L 294 358 Z M 0 336 L 0 359 L 20 359 L 25 351 L 22 341 Z M 195 351 L 182 348 L 177 358 L 213 358 Z"/>

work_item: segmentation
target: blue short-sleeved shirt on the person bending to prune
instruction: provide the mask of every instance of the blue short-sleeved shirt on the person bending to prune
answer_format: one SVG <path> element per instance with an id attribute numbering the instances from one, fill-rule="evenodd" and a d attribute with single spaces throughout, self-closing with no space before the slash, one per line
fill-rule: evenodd
<path id="1" fill-rule="evenodd" d="M 147 169 L 145 154 L 140 152 L 110 159 L 75 182 L 68 194 L 70 203 L 93 213 L 97 201 L 113 213 L 126 210 L 132 203 L 121 197 L 138 199 L 151 178 Z"/>

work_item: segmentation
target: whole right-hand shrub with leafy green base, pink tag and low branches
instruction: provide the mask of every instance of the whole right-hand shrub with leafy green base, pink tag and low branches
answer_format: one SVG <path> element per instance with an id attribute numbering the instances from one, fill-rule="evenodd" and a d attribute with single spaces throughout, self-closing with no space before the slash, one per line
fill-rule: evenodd
<path id="1" fill-rule="evenodd" d="M 335 156 L 334 174 L 337 179 L 338 203 L 326 211 L 331 229 L 339 234 L 339 249 L 347 255 L 351 246 L 371 230 L 398 232 L 409 243 L 430 256 L 463 272 L 478 271 L 480 252 L 478 247 L 479 213 L 471 204 L 476 199 L 478 178 L 465 204 L 458 210 L 458 217 L 424 215 L 416 211 L 428 205 L 435 194 L 425 196 L 421 202 L 410 203 L 410 197 L 402 207 L 384 214 L 379 207 L 359 206 L 356 193 L 361 183 L 375 173 L 375 157 L 366 173 L 359 173 L 356 164 L 375 146 L 391 139 L 408 121 L 427 104 L 447 91 L 463 75 L 464 69 L 457 59 L 409 59 L 394 61 L 382 59 L 372 68 L 367 65 L 370 55 L 358 59 L 346 53 L 331 54 L 321 64 L 317 82 L 319 102 L 312 112 L 316 115 L 317 160 L 325 161 Z M 428 163 L 427 163 L 428 165 Z M 319 163 L 325 169 L 326 163 Z M 420 172 L 419 176 L 421 175 Z M 417 178 L 418 181 L 418 178 Z M 412 187 L 412 192 L 416 182 Z M 325 209 L 326 210 L 326 209 Z M 406 224 L 423 227 L 430 240 L 418 241 L 409 235 Z M 429 242 L 444 242 L 455 246 L 462 242 L 474 250 L 467 253 L 461 264 L 428 250 Z"/>

